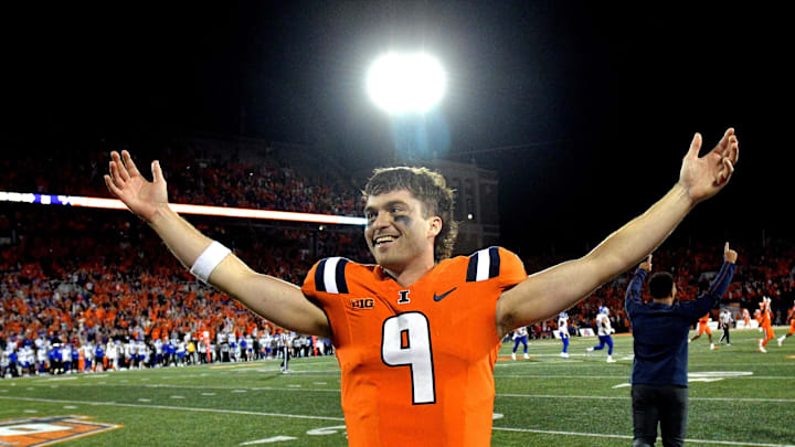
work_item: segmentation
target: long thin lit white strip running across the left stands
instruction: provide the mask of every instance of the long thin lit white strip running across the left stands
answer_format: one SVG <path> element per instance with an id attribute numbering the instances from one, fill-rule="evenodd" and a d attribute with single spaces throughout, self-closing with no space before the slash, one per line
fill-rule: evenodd
<path id="1" fill-rule="evenodd" d="M 42 205 L 66 205 L 98 207 L 105 210 L 127 210 L 118 199 L 86 198 L 81 195 L 53 195 L 24 192 L 0 191 L 0 202 L 38 203 Z M 191 205 L 169 203 L 169 207 L 179 214 L 203 214 L 222 217 L 267 219 L 273 221 L 311 222 L 336 225 L 365 225 L 364 217 L 344 215 L 297 213 L 293 211 L 253 210 L 244 207 Z"/>

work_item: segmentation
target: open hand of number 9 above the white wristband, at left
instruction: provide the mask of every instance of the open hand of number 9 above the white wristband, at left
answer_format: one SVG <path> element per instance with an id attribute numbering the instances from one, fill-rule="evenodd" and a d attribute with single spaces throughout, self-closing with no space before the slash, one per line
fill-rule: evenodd
<path id="1" fill-rule="evenodd" d="M 151 222 L 162 206 L 168 206 L 168 191 L 160 162 L 151 164 L 153 181 L 150 182 L 138 171 L 126 150 L 110 152 L 110 174 L 105 174 L 108 191 L 127 207 L 147 222 Z"/>

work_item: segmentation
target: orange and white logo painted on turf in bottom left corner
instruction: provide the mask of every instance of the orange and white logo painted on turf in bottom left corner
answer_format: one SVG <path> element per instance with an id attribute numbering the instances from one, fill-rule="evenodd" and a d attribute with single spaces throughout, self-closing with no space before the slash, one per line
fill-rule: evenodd
<path id="1" fill-rule="evenodd" d="M 0 446 L 47 446 L 121 427 L 85 421 L 87 416 L 33 417 L 0 422 Z"/>

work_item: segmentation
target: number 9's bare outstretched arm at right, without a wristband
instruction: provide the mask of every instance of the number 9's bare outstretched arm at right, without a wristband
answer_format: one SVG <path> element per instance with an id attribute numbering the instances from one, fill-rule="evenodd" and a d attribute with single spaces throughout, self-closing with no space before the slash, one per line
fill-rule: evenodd
<path id="1" fill-rule="evenodd" d="M 654 252 L 702 200 L 729 182 L 739 158 L 734 129 L 699 157 L 696 134 L 682 160 L 679 181 L 645 213 L 611 234 L 585 256 L 529 276 L 497 301 L 497 332 L 545 320 L 569 309 L 601 285 Z"/>

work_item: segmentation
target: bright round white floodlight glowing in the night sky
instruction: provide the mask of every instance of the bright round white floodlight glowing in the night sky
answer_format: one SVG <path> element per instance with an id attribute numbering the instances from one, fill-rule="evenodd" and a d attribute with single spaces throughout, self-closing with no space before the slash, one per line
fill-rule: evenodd
<path id="1" fill-rule="evenodd" d="M 438 104 L 447 87 L 442 65 L 426 53 L 388 53 L 367 74 L 367 91 L 390 115 L 424 113 Z"/>

